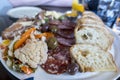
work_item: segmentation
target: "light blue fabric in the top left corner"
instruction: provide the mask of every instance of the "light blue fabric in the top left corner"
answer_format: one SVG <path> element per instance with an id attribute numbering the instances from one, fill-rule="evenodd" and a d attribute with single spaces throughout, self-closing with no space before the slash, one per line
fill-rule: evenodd
<path id="1" fill-rule="evenodd" d="M 12 8 L 9 0 L 0 0 L 0 15 L 6 15 L 7 11 Z"/>

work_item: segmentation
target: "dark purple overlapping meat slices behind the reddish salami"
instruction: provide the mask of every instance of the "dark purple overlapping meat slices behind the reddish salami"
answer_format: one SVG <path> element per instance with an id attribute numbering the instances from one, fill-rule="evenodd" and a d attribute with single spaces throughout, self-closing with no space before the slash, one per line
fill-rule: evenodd
<path id="1" fill-rule="evenodd" d="M 56 31 L 56 38 L 59 44 L 63 46 L 71 46 L 75 43 L 74 39 L 74 28 L 76 24 L 69 20 L 62 21 L 50 21 L 51 25 L 56 25 L 58 31 Z"/>

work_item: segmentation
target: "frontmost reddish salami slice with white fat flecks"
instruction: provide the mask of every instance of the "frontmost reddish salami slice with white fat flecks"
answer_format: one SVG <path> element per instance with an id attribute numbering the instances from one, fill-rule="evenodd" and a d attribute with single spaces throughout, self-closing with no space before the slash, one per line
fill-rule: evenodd
<path id="1" fill-rule="evenodd" d="M 61 60 L 56 60 L 53 57 L 48 57 L 47 62 L 42 65 L 42 68 L 51 74 L 61 74 L 67 70 L 68 63 Z"/>

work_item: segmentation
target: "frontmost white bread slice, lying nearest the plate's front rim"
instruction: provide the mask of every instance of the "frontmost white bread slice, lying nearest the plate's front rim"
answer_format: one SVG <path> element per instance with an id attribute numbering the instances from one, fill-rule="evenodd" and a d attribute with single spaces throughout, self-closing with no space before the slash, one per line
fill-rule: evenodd
<path id="1" fill-rule="evenodd" d="M 82 72 L 116 71 L 112 55 L 92 44 L 76 44 L 70 49 Z"/>

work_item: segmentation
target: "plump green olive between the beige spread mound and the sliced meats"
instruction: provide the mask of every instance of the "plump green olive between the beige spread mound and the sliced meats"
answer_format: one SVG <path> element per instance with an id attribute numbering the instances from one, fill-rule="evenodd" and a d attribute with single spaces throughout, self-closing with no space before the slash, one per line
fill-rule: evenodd
<path id="1" fill-rule="evenodd" d="M 47 45 L 49 49 L 55 49 L 58 46 L 57 39 L 55 37 L 51 37 L 47 40 Z"/>

